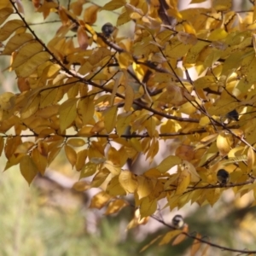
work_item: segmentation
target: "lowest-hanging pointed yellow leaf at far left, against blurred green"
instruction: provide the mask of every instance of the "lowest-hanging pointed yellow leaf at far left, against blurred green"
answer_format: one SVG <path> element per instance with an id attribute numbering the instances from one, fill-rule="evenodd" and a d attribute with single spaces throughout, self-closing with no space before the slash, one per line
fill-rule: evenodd
<path id="1" fill-rule="evenodd" d="M 31 184 L 33 178 L 38 174 L 37 166 L 28 155 L 24 155 L 20 160 L 20 172 L 28 184 Z"/>

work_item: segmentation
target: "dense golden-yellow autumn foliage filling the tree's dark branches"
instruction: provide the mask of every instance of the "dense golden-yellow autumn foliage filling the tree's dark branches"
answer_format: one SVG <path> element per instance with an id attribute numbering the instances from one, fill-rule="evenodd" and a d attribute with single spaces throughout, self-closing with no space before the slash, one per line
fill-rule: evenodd
<path id="1" fill-rule="evenodd" d="M 102 188 L 91 207 L 119 212 L 134 195 L 139 212 L 130 227 L 145 224 L 162 199 L 172 211 L 214 206 L 230 188 L 256 195 L 253 4 L 236 13 L 229 0 L 182 11 L 177 0 L 87 2 L 32 0 L 44 19 L 61 20 L 46 44 L 20 0 L 1 0 L 1 55 L 10 56 L 19 89 L 0 95 L 4 170 L 20 165 L 32 183 L 64 149 L 80 173 L 75 188 Z M 118 20 L 96 31 L 102 10 Z M 128 22 L 131 37 L 119 36 Z M 175 148 L 156 166 L 128 170 L 142 154 L 151 163 L 171 140 Z M 220 169 L 229 172 L 226 183 Z M 172 230 L 160 244 L 187 231 Z"/>

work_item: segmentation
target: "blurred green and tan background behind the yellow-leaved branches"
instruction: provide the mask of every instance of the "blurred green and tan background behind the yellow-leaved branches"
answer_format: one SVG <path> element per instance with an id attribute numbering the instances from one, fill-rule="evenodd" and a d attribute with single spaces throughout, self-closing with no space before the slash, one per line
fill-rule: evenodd
<path id="1" fill-rule="evenodd" d="M 67 0 L 61 4 L 67 6 Z M 103 5 L 107 0 L 95 1 Z M 242 3 L 242 1 L 241 1 Z M 23 0 L 26 20 L 30 23 L 44 22 L 42 15 L 34 13 L 32 3 Z M 88 6 L 88 5 L 87 5 Z M 84 6 L 85 8 L 85 6 Z M 55 14 L 49 20 L 55 20 Z M 100 12 L 95 30 L 100 32 L 106 22 L 115 23 L 116 15 Z M 33 25 L 39 38 L 46 42 L 60 23 Z M 130 24 L 131 26 L 131 24 Z M 129 35 L 129 24 L 120 27 L 121 33 Z M 9 59 L 1 57 L 0 68 L 8 67 Z M 15 74 L 0 73 L 4 90 L 17 91 Z M 63 152 L 61 153 L 63 154 Z M 78 173 L 70 170 L 65 158 L 58 156 L 53 170 L 60 172 L 71 181 L 78 180 Z M 1 156 L 2 170 L 6 159 Z M 0 255 L 2 256 L 169 256 L 189 255 L 187 248 L 193 241 L 184 241 L 173 247 L 153 245 L 143 253 L 140 249 L 156 236 L 165 234 L 166 227 L 150 220 L 145 226 L 126 231 L 126 225 L 133 216 L 133 209 L 125 207 L 118 215 L 104 216 L 102 211 L 89 209 L 90 195 L 63 188 L 48 177 L 37 177 L 31 187 L 20 175 L 18 167 L 3 172 L 0 177 Z M 231 190 L 226 191 L 218 203 L 212 207 L 187 206 L 182 214 L 186 217 L 190 232 L 196 230 L 205 238 L 226 247 L 255 249 L 256 229 L 255 207 L 251 208 L 253 195 L 234 198 Z M 167 211 L 168 212 L 168 209 Z M 162 213 L 166 223 L 175 212 Z M 203 248 L 203 247 L 202 247 Z M 201 254 L 199 254 L 201 255 Z M 208 255 L 231 255 L 210 249 Z"/>

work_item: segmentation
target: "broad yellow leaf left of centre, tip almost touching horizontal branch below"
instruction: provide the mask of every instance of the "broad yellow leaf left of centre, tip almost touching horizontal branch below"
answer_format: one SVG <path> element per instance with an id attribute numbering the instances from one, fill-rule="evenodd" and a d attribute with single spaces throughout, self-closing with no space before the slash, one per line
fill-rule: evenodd
<path id="1" fill-rule="evenodd" d="M 59 109 L 61 132 L 65 131 L 77 116 L 77 99 L 69 99 Z"/>

